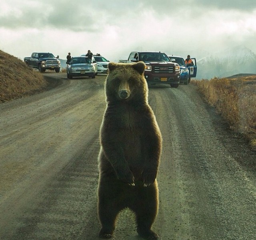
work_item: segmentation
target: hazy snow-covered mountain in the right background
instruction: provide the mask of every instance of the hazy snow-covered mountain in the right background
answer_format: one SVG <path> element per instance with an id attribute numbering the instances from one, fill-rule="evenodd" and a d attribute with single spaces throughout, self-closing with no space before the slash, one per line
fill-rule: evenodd
<path id="1" fill-rule="evenodd" d="M 197 59 L 196 79 L 229 77 L 240 73 L 256 74 L 256 54 L 245 46 L 237 46 Z"/>

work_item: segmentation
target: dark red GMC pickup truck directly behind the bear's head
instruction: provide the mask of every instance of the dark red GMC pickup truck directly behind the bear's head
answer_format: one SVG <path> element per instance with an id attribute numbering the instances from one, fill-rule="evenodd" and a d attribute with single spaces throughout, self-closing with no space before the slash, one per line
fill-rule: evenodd
<path id="1" fill-rule="evenodd" d="M 148 85 L 166 83 L 174 88 L 179 86 L 180 66 L 178 63 L 172 63 L 165 53 L 133 51 L 128 60 L 119 60 L 119 63 L 136 63 L 138 61 L 143 61 L 146 64 L 144 76 Z"/>

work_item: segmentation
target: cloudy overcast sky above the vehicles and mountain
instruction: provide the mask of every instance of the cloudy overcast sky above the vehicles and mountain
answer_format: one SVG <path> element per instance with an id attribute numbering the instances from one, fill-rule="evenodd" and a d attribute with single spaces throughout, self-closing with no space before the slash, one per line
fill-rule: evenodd
<path id="1" fill-rule="evenodd" d="M 66 59 L 130 51 L 202 57 L 244 45 L 256 53 L 256 0 L 0 0 L 0 49 Z"/>

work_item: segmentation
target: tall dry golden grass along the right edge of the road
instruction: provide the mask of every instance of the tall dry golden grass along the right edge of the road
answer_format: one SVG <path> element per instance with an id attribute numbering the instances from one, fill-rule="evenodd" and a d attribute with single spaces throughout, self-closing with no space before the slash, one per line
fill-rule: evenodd
<path id="1" fill-rule="evenodd" d="M 192 81 L 228 122 L 256 149 L 256 76 Z"/>

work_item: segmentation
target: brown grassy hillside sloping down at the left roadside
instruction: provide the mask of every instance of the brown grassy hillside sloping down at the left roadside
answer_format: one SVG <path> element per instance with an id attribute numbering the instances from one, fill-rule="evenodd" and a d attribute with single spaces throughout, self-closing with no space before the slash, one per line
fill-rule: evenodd
<path id="1" fill-rule="evenodd" d="M 0 50 L 0 102 L 31 95 L 47 86 L 42 74 Z"/>

